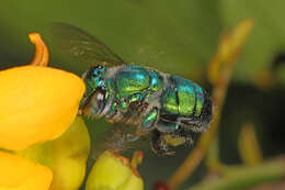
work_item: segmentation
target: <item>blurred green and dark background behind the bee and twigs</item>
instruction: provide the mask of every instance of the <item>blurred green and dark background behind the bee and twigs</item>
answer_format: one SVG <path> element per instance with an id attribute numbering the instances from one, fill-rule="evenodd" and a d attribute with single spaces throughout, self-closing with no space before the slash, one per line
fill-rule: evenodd
<path id="1" fill-rule="evenodd" d="M 221 116 L 220 156 L 224 163 L 240 163 L 238 134 L 251 121 L 264 157 L 274 157 L 285 153 L 284 8 L 284 0 L 2 0 L 0 69 L 30 63 L 34 45 L 27 33 L 39 32 L 50 47 L 50 66 L 81 75 L 84 64 L 61 56 L 47 33 L 54 22 L 67 22 L 99 37 L 127 63 L 192 79 L 210 91 L 206 67 L 220 34 L 253 19 Z M 104 126 L 89 130 L 98 125 Z M 190 149 L 179 147 L 174 157 L 147 153 L 140 166 L 147 189 L 168 179 Z M 201 166 L 182 189 L 203 174 Z"/>

